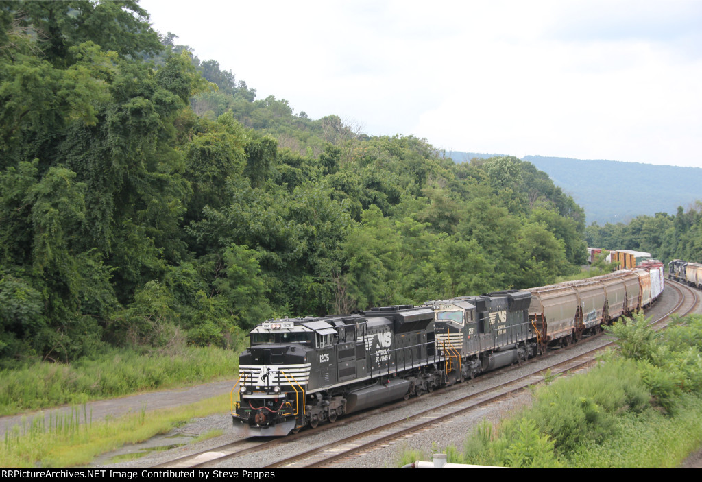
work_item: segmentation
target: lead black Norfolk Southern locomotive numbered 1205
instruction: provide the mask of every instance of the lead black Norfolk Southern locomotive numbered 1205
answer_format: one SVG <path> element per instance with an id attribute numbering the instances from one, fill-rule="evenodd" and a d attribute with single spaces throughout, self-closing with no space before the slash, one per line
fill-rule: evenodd
<path id="1" fill-rule="evenodd" d="M 407 305 L 262 323 L 239 359 L 234 426 L 246 436 L 285 435 L 402 399 L 415 384 L 433 389 L 443 360 L 433 323 L 432 309 Z"/>

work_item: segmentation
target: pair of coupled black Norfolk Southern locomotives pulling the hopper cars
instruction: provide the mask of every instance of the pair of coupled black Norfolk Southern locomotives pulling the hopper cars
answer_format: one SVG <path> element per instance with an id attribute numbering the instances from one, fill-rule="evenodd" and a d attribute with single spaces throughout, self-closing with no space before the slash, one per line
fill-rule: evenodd
<path id="1" fill-rule="evenodd" d="M 504 291 L 266 321 L 239 358 L 234 427 L 282 436 L 527 359 L 536 353 L 530 299 Z"/>

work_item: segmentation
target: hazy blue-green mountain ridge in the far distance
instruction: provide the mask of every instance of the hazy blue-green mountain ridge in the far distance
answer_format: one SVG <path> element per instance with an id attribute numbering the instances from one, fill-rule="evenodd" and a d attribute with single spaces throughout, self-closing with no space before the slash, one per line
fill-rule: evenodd
<path id="1" fill-rule="evenodd" d="M 446 152 L 456 162 L 505 154 Z M 637 215 L 675 214 L 702 199 L 702 168 L 524 156 L 585 209 L 587 223 L 628 222 Z"/>

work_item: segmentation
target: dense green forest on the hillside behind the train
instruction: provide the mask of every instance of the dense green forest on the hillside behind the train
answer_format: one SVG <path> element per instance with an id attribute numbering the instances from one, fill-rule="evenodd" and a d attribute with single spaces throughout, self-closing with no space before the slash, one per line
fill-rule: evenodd
<path id="1" fill-rule="evenodd" d="M 4 363 L 227 347 L 272 316 L 584 262 L 583 210 L 531 163 L 309 119 L 148 20 L 130 0 L 0 4 Z"/>

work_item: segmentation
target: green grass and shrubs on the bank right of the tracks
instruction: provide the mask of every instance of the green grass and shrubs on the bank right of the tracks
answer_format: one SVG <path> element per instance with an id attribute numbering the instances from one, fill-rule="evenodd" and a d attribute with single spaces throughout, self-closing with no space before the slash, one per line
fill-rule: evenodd
<path id="1" fill-rule="evenodd" d="M 618 352 L 534 390 L 531 408 L 481 424 L 449 462 L 503 467 L 678 467 L 702 444 L 702 316 L 655 333 L 617 323 Z M 405 453 L 399 464 L 427 454 Z"/>

